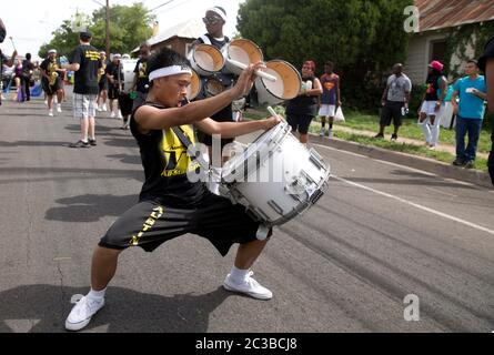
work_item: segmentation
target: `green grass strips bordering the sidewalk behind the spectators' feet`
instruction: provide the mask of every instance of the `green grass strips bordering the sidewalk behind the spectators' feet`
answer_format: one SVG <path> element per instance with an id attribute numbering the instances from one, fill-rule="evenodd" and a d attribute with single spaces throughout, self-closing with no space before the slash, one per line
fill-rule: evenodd
<path id="1" fill-rule="evenodd" d="M 281 106 L 274 108 L 276 112 L 282 113 L 283 109 Z M 266 118 L 269 115 L 268 111 L 263 113 L 264 110 L 259 110 L 258 112 L 248 112 L 245 113 L 246 119 L 259 120 Z M 377 132 L 379 130 L 379 116 L 363 114 L 359 112 L 345 112 L 345 122 L 337 122 L 336 125 L 351 128 L 354 130 L 361 131 L 372 131 Z M 319 119 L 314 120 L 310 126 L 311 133 L 319 133 L 320 130 Z M 386 131 L 390 131 L 387 129 Z M 391 132 L 391 131 L 390 131 Z M 409 139 L 415 139 L 423 141 L 424 136 L 422 133 L 422 129 L 416 124 L 416 120 L 405 119 L 403 121 L 403 125 L 400 128 L 399 135 Z M 376 140 L 366 135 L 352 134 L 343 131 L 334 131 L 334 136 L 345 140 L 352 141 L 364 145 L 372 145 L 382 149 L 387 149 L 396 152 L 403 152 L 407 154 L 414 154 L 419 156 L 425 156 L 430 159 L 434 159 L 441 162 L 451 163 L 455 159 L 455 156 L 447 152 L 442 151 L 432 151 L 426 146 L 422 145 L 413 145 L 406 143 L 397 143 L 395 141 L 389 140 Z M 455 132 L 454 130 L 441 129 L 440 134 L 440 144 L 450 144 L 455 145 Z M 488 153 L 491 150 L 491 133 L 486 130 L 481 132 L 481 138 L 478 140 L 478 152 Z M 475 162 L 475 169 L 486 172 L 487 171 L 487 160 L 477 156 Z"/>

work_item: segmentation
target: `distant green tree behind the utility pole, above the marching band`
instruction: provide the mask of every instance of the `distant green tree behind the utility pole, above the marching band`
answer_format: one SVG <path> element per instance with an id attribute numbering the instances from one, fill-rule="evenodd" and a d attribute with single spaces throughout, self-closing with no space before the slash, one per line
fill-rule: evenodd
<path id="1" fill-rule="evenodd" d="M 80 17 L 78 18 L 80 21 Z M 110 7 L 110 44 L 113 53 L 129 53 L 142 41 L 152 34 L 149 27 L 154 20 L 154 16 L 148 13 L 148 9 L 142 3 L 134 3 L 131 7 Z M 91 44 L 99 49 L 105 48 L 105 13 L 104 8 L 95 10 L 92 17 L 85 17 L 84 22 L 92 32 Z M 60 28 L 53 32 L 53 38 L 49 43 L 43 44 L 38 54 L 46 58 L 48 50 L 57 49 L 59 55 L 69 55 L 79 44 L 79 31 L 74 31 L 74 20 L 64 20 Z"/>

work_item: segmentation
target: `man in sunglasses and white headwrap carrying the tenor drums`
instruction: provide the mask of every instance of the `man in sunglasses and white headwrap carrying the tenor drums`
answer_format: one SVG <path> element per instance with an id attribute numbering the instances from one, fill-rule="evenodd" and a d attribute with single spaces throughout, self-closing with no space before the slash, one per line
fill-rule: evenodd
<path id="1" fill-rule="evenodd" d="M 202 19 L 202 21 L 205 24 L 205 29 L 208 30 L 208 33 L 201 36 L 199 39 L 196 39 L 192 44 L 196 45 L 200 43 L 205 43 L 210 45 L 214 45 L 218 49 L 222 49 L 228 42 L 230 42 L 230 39 L 223 34 L 223 26 L 226 22 L 226 11 L 221 7 L 214 7 L 211 9 L 208 9 L 205 11 L 205 17 Z M 224 69 L 222 71 L 214 73 L 212 77 L 201 77 L 202 81 L 202 91 L 196 97 L 196 100 L 202 100 L 206 98 L 205 93 L 205 83 L 211 78 L 218 79 L 222 84 L 224 90 L 231 88 L 233 85 L 233 79 L 234 77 L 231 73 L 228 73 Z M 223 110 L 216 112 L 211 116 L 214 121 L 218 122 L 232 122 L 233 121 L 233 111 L 232 105 L 229 104 Z M 210 161 L 211 159 L 211 151 L 212 151 L 212 136 L 202 132 L 199 132 L 198 139 L 201 143 L 209 146 L 210 150 Z M 223 150 L 223 146 L 228 143 L 233 142 L 233 139 L 222 139 L 221 140 L 221 149 Z"/>

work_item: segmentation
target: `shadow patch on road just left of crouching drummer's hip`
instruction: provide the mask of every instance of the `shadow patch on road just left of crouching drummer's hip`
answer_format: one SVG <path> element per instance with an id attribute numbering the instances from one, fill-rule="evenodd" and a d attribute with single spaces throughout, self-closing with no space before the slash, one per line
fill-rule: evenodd
<path id="1" fill-rule="evenodd" d="M 138 203 L 138 195 L 114 196 L 110 194 L 85 194 L 73 197 L 59 199 L 57 203 L 62 207 L 47 211 L 46 220 L 61 222 L 95 222 L 111 215 L 120 216 L 123 212 Z"/>

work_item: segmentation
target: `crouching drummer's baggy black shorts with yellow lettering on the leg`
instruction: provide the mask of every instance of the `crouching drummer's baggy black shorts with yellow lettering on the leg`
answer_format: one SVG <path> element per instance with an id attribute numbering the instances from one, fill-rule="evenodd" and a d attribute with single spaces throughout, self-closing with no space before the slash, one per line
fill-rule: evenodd
<path id="1" fill-rule="evenodd" d="M 167 241 L 192 233 L 209 240 L 225 256 L 234 243 L 255 241 L 259 225 L 244 206 L 208 191 L 196 206 L 189 209 L 141 201 L 113 223 L 99 245 L 115 250 L 141 246 L 152 252 Z"/>

